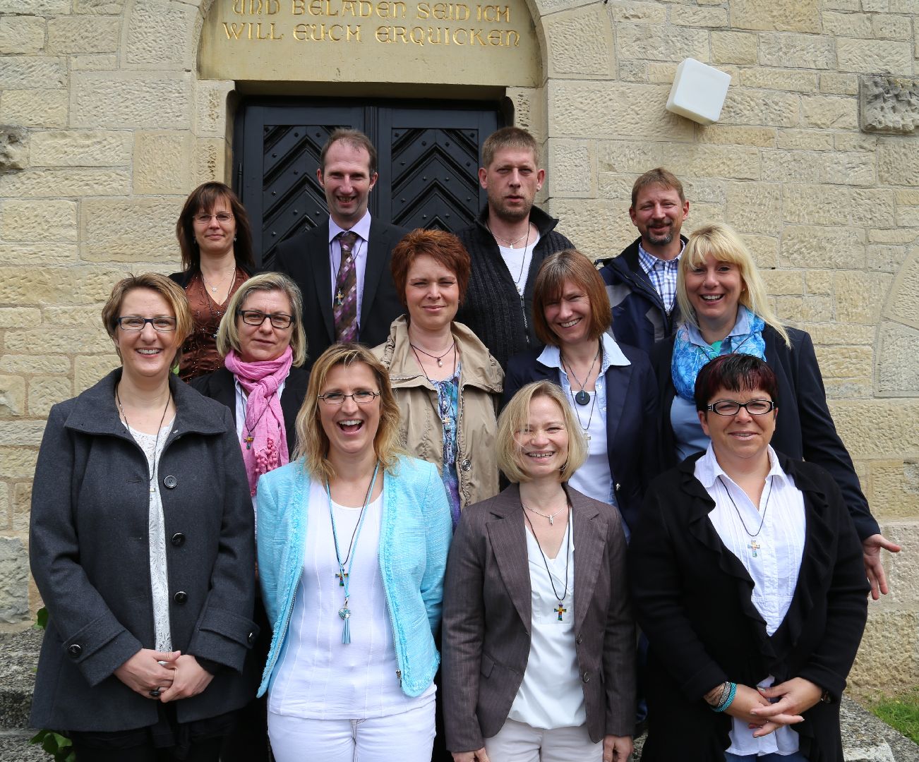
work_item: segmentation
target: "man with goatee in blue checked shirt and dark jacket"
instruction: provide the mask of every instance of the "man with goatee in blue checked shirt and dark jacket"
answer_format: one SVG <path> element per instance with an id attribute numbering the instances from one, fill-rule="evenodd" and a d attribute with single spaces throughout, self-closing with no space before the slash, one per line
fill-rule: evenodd
<path id="1" fill-rule="evenodd" d="M 686 245 L 680 228 L 689 214 L 683 185 L 657 167 L 632 186 L 629 216 L 641 235 L 619 256 L 598 263 L 613 307 L 613 334 L 646 352 L 674 333 L 676 271 Z"/>

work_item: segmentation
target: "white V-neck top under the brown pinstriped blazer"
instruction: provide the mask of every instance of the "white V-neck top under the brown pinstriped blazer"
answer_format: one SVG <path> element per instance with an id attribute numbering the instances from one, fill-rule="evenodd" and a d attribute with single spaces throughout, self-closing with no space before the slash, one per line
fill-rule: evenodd
<path id="1" fill-rule="evenodd" d="M 539 543 L 527 528 L 527 558 L 532 596 L 532 637 L 529 643 L 527 670 L 517 691 L 508 719 L 526 722 L 534 728 L 577 727 L 587 722 L 584 709 L 584 688 L 578 674 L 577 652 L 574 650 L 574 523 L 569 517 L 569 535 L 555 558 L 539 552 Z M 552 590 L 561 595 L 565 589 L 565 569 L 568 569 L 568 592 L 561 603 Z"/>

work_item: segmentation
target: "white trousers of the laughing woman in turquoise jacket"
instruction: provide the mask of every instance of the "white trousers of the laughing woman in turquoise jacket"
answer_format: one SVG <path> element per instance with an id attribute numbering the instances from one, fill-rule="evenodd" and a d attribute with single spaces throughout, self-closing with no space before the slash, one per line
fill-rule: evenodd
<path id="1" fill-rule="evenodd" d="M 434 697 L 425 705 L 367 720 L 308 720 L 268 712 L 277 762 L 431 762 Z"/>

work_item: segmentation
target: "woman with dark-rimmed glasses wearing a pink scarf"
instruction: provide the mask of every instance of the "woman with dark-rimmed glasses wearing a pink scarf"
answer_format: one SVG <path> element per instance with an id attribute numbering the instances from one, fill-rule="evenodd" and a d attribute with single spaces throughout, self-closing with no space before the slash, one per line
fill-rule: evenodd
<path id="1" fill-rule="evenodd" d="M 233 294 L 217 332 L 225 367 L 191 381 L 233 413 L 254 504 L 258 477 L 287 463 L 296 446 L 295 421 L 310 376 L 301 368 L 306 359 L 302 313 L 300 289 L 287 276 L 269 272 L 246 280 Z M 247 668 L 257 670 L 265 664 L 271 638 L 260 600 L 255 620 L 261 635 Z M 264 701 L 254 700 L 244 711 L 246 716 L 224 739 L 221 760 L 267 762 Z"/>

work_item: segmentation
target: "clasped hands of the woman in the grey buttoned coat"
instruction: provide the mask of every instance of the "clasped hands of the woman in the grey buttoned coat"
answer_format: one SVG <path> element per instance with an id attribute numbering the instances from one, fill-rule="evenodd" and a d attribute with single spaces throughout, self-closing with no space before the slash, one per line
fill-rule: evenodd
<path id="1" fill-rule="evenodd" d="M 135 693 L 163 703 L 197 696 L 213 679 L 194 656 L 149 648 L 142 648 L 119 666 L 115 677 Z"/>

